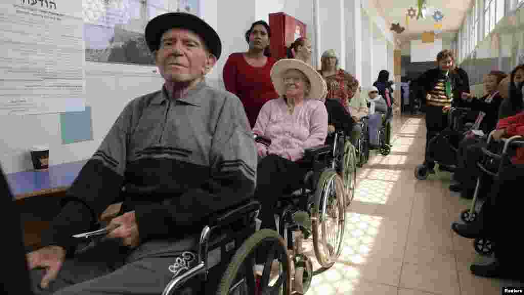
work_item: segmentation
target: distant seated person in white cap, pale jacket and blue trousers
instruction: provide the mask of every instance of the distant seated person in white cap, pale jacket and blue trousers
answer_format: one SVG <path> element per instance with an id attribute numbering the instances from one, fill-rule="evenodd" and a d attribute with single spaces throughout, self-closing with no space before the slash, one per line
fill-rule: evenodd
<path id="1" fill-rule="evenodd" d="M 369 89 L 367 101 L 369 102 L 369 149 L 376 150 L 379 148 L 378 130 L 382 125 L 382 115 L 387 113 L 388 106 L 375 86 Z"/>

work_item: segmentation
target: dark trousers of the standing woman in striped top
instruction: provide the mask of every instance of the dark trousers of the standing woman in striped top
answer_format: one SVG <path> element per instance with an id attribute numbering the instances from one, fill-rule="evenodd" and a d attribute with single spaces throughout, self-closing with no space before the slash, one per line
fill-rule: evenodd
<path id="1" fill-rule="evenodd" d="M 442 112 L 442 107 L 426 106 L 425 107 L 425 122 L 426 122 L 426 150 L 424 157 L 424 164 L 431 170 L 435 166 L 435 162 L 429 158 L 434 158 L 435 155 L 430 151 L 429 141 L 435 135 L 442 132 L 447 127 L 447 113 Z"/>

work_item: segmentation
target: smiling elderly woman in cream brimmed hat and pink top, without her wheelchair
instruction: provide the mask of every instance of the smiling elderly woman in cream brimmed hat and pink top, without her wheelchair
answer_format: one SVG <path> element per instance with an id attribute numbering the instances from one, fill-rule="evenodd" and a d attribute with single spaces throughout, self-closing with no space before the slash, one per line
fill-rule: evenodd
<path id="1" fill-rule="evenodd" d="M 255 134 L 271 140 L 269 146 L 257 143 L 262 159 L 257 167 L 255 198 L 261 204 L 260 228 L 276 230 L 278 199 L 302 187 L 311 164 L 300 159 L 305 149 L 324 144 L 328 112 L 319 99 L 322 76 L 305 62 L 281 59 L 273 67 L 271 79 L 280 98 L 264 104 L 253 128 Z M 257 264 L 264 263 L 265 251 L 257 254 Z"/>

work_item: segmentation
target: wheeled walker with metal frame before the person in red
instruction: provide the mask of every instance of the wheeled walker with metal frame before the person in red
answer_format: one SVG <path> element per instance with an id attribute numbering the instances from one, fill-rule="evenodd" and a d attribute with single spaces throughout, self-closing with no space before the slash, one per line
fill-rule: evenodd
<path id="1" fill-rule="evenodd" d="M 510 151 L 515 148 L 524 147 L 524 138 L 521 136 L 512 136 L 509 139 L 502 139 L 504 145 L 500 151 L 498 145 L 491 144 L 494 132 L 495 131 L 489 133 L 487 140 L 488 148 L 482 148 L 484 156 L 481 161 L 477 162 L 477 166 L 482 171 L 482 174 L 477 178 L 471 206 L 469 209 L 464 210 L 460 216 L 462 221 L 466 224 L 474 222 L 477 218 L 478 212 L 482 206 L 479 202 L 480 192 L 481 188 L 484 190 L 484 187 L 486 187 L 485 182 L 488 180 L 491 181 L 491 183 L 496 181 L 500 171 L 504 169 L 505 163 L 510 163 Z M 489 195 L 489 197 L 495 196 Z M 475 251 L 481 255 L 491 255 L 493 253 L 493 243 L 492 239 L 489 237 L 475 238 L 473 241 L 473 247 Z"/>

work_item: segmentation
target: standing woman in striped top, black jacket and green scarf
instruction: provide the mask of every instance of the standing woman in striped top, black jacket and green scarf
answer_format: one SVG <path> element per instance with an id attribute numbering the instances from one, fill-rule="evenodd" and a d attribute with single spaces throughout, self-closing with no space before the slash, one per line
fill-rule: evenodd
<path id="1" fill-rule="evenodd" d="M 444 49 L 436 56 L 438 67 L 427 70 L 418 79 L 422 97 L 425 98 L 426 152 L 424 167 L 434 173 L 435 162 L 429 157 L 428 142 L 447 127 L 447 112 L 453 107 L 467 106 L 463 93 L 470 93 L 470 81 L 467 73 L 455 67 L 455 58 L 451 50 Z M 466 97 L 466 96 L 464 96 Z M 444 170 L 449 170 L 440 165 Z"/>

